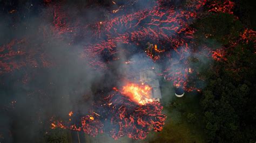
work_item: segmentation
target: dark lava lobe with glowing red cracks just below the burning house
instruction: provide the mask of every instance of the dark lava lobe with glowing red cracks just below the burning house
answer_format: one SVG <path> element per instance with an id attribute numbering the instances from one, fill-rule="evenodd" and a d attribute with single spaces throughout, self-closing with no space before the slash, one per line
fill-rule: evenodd
<path id="1" fill-rule="evenodd" d="M 138 104 L 131 101 L 120 92 L 105 98 L 106 103 L 112 103 L 108 108 L 107 116 L 112 115 L 109 134 L 114 139 L 125 135 L 132 139 L 145 139 L 150 131 L 163 130 L 166 115 L 161 113 L 163 106 L 159 102 Z M 101 109 L 101 108 L 100 108 Z"/>

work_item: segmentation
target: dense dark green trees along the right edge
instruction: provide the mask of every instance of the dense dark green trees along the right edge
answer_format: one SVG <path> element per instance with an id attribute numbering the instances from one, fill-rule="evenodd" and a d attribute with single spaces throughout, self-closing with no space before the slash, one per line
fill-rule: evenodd
<path id="1" fill-rule="evenodd" d="M 253 40 L 239 40 L 242 23 L 226 13 L 212 14 L 193 25 L 199 43 L 225 49 L 223 60 L 213 61 L 208 70 L 201 106 L 210 142 L 255 142 L 256 107 Z M 202 35 L 210 35 L 207 39 Z M 235 44 L 234 44 L 235 43 Z"/>

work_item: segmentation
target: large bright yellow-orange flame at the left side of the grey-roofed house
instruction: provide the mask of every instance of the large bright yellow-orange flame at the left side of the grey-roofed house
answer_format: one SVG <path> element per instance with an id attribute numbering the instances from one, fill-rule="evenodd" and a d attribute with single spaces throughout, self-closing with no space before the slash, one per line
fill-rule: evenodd
<path id="1" fill-rule="evenodd" d="M 139 85 L 135 83 L 129 83 L 123 87 L 121 93 L 130 97 L 132 101 L 139 104 L 144 105 L 146 103 L 153 102 L 150 97 L 151 87 L 146 84 Z"/>

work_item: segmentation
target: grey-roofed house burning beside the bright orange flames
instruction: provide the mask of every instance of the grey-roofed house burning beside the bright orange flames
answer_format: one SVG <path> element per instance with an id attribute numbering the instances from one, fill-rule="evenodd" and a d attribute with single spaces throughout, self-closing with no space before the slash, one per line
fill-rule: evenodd
<path id="1" fill-rule="evenodd" d="M 160 85 L 154 71 L 143 70 L 143 71 L 140 71 L 139 76 L 140 76 L 140 82 L 148 84 L 151 87 L 151 92 L 149 94 L 150 99 L 152 99 L 152 101 L 160 102 L 160 98 L 161 98 Z"/>

